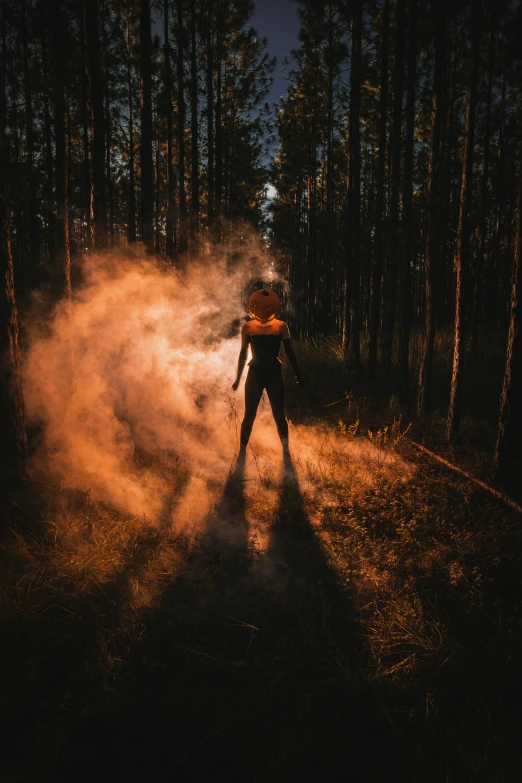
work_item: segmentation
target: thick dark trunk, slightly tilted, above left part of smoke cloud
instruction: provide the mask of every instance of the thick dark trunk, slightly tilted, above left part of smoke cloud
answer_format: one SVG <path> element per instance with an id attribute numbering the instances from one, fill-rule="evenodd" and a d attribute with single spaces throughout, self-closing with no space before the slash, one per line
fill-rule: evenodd
<path id="1" fill-rule="evenodd" d="M 87 60 L 92 106 L 92 184 L 94 247 L 107 247 L 107 192 L 105 188 L 105 114 L 101 72 L 98 0 L 84 0 Z"/>

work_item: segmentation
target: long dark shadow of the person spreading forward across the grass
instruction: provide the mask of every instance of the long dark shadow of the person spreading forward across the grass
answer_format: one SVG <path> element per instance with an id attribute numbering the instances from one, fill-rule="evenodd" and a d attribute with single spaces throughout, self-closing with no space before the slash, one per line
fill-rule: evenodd
<path id="1" fill-rule="evenodd" d="M 248 541 L 243 478 L 240 460 L 54 781 L 92 779 L 102 757 L 107 777 L 140 781 L 408 779 L 290 454 L 264 554 Z"/>

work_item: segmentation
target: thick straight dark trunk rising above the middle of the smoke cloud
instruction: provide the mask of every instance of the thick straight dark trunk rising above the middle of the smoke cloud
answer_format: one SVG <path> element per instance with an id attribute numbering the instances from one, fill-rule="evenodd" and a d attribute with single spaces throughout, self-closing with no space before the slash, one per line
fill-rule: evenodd
<path id="1" fill-rule="evenodd" d="M 152 162 L 152 41 L 149 0 L 140 0 L 140 72 L 140 234 L 143 244 L 149 252 L 152 252 L 154 247 L 154 167 Z"/>

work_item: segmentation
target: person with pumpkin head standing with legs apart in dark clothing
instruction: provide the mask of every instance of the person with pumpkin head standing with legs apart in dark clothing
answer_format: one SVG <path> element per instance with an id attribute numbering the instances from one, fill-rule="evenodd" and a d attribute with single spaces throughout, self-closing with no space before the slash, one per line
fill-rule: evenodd
<path id="1" fill-rule="evenodd" d="M 302 385 L 297 358 L 290 342 L 290 332 L 284 321 L 277 316 L 281 310 L 279 297 L 273 291 L 260 289 L 255 291 L 248 301 L 248 310 L 252 321 L 248 321 L 241 331 L 241 351 L 237 365 L 237 378 L 232 384 L 236 391 L 247 360 L 248 346 L 252 351 L 252 360 L 248 365 L 245 382 L 245 416 L 241 424 L 241 446 L 246 449 L 257 408 L 266 389 L 277 431 L 288 449 L 288 422 L 285 417 L 285 385 L 279 350 L 283 343 L 286 355 L 296 375 L 297 383 Z"/>

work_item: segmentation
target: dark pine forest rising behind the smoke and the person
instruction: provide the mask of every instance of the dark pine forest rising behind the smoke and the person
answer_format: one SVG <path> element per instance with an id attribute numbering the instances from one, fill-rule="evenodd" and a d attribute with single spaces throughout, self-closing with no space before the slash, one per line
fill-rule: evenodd
<path id="1" fill-rule="evenodd" d="M 32 292 L 73 295 L 85 251 L 141 241 L 181 267 L 251 224 L 290 283 L 296 336 L 338 341 L 400 404 L 430 411 L 443 346 L 449 440 L 467 362 L 494 344 L 494 464 L 519 476 L 521 4 L 301 0 L 290 64 L 249 26 L 253 7 L 1 3 L 4 453 L 23 467 Z M 269 106 L 275 68 L 288 89 Z"/>

